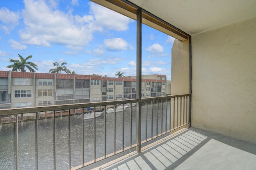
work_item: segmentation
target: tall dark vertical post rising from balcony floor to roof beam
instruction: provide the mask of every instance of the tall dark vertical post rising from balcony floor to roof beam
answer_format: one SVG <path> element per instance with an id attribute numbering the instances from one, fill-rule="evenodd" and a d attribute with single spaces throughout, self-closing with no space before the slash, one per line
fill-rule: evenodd
<path id="1" fill-rule="evenodd" d="M 142 49 L 142 9 L 137 9 L 137 56 L 136 56 L 136 98 L 140 99 L 137 107 L 137 116 L 136 116 L 136 151 L 141 151 L 141 70 L 142 70 L 142 59 L 141 59 L 141 49 Z"/>

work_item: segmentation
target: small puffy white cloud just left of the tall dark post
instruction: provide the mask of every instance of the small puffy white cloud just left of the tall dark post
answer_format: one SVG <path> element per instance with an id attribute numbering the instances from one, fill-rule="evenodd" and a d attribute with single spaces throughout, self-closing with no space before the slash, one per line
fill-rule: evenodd
<path id="1" fill-rule="evenodd" d="M 110 51 L 126 50 L 127 42 L 122 38 L 112 38 L 104 40 L 104 44 Z"/>

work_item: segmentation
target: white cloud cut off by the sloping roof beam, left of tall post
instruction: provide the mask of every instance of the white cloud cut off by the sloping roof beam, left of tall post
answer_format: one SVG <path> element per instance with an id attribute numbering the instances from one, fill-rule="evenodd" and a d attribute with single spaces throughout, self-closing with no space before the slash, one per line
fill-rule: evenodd
<path id="1" fill-rule="evenodd" d="M 95 26 L 106 28 L 108 30 L 125 31 L 128 30 L 128 24 L 134 20 L 109 10 L 95 3 L 90 3 L 90 14 L 95 18 Z"/>

